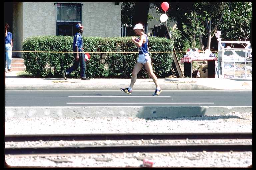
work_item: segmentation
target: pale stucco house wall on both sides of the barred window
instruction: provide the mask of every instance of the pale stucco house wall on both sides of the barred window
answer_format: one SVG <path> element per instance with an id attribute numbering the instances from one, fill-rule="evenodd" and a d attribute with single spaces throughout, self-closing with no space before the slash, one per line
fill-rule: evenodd
<path id="1" fill-rule="evenodd" d="M 83 2 L 82 4 L 83 36 L 121 36 L 121 4 L 115 5 L 114 2 Z M 21 51 L 24 39 L 40 35 L 56 35 L 54 2 L 14 3 L 13 50 Z M 22 57 L 21 52 L 16 52 L 14 55 Z"/>

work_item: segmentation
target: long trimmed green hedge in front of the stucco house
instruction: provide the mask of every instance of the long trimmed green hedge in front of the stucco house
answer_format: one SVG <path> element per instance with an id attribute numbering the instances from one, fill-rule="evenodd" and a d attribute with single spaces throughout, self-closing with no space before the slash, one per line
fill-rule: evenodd
<path id="1" fill-rule="evenodd" d="M 137 52 L 131 37 L 83 37 L 85 52 Z M 73 37 L 39 36 L 24 40 L 24 51 L 72 51 Z M 149 52 L 172 51 L 173 42 L 166 38 L 149 37 Z M 131 78 L 138 53 L 90 53 L 86 76 L 90 78 Z M 150 53 L 154 73 L 162 78 L 172 74 L 172 53 Z M 23 52 L 26 71 L 39 77 L 61 77 L 61 71 L 74 61 L 73 53 Z M 68 77 L 79 78 L 79 67 Z M 138 78 L 148 78 L 145 68 Z"/>

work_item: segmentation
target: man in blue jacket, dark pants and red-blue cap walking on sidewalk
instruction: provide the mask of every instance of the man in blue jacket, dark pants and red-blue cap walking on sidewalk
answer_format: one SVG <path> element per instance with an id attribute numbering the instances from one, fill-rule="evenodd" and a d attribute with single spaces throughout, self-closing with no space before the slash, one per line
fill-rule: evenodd
<path id="1" fill-rule="evenodd" d="M 62 71 L 62 75 L 63 75 L 63 78 L 65 80 L 67 80 L 66 76 L 68 74 L 70 74 L 72 71 L 76 70 L 77 67 L 80 65 L 80 76 L 81 76 L 81 79 L 82 80 L 90 80 L 89 78 L 87 78 L 85 76 L 85 70 L 86 70 L 86 63 L 85 63 L 85 55 L 83 53 L 83 38 L 82 38 L 82 33 L 83 33 L 83 26 L 78 23 L 76 26 L 75 26 L 76 30 L 77 30 L 77 33 L 75 34 L 74 36 L 74 41 L 73 41 L 73 51 L 74 51 L 74 57 L 75 57 L 75 62 L 74 64 L 68 68 L 66 71 Z M 78 53 L 80 52 L 80 53 Z"/>

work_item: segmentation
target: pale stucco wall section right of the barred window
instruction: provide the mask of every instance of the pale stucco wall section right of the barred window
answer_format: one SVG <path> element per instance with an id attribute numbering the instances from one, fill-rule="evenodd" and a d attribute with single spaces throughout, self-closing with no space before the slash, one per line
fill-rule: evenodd
<path id="1" fill-rule="evenodd" d="M 83 36 L 120 37 L 121 3 L 84 2 L 82 6 Z"/>

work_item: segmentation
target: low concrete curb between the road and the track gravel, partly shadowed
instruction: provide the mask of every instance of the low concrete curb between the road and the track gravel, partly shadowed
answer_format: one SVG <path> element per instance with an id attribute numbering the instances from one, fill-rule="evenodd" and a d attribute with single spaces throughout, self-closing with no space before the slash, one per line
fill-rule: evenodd
<path id="1" fill-rule="evenodd" d="M 102 106 L 102 107 L 5 107 L 5 118 L 86 118 L 137 117 L 170 118 L 226 115 L 231 112 L 252 112 L 252 106 Z"/>

